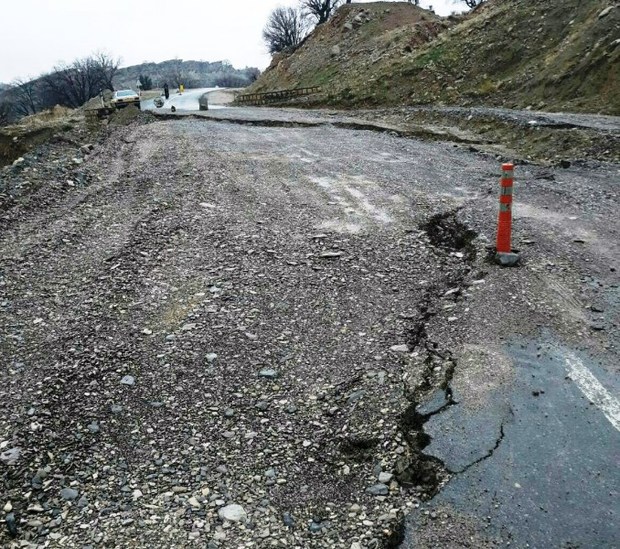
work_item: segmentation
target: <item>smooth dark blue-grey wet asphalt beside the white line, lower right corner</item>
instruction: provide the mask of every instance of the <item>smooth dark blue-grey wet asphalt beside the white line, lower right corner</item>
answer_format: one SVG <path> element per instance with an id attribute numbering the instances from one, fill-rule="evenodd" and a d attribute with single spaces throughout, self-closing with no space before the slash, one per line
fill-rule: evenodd
<path id="1" fill-rule="evenodd" d="M 410 517 L 402 547 L 427 547 L 428 530 L 455 517 L 491 546 L 617 547 L 620 433 L 567 358 L 618 394 L 614 378 L 555 344 L 511 345 L 506 358 L 482 401 L 455 391 L 458 404 L 428 421 L 426 452 L 455 475 Z"/>

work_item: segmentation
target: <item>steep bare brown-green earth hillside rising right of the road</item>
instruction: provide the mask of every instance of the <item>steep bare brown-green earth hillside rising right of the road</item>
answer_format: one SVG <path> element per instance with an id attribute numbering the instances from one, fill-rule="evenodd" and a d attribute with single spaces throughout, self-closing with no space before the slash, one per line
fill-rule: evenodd
<path id="1" fill-rule="evenodd" d="M 620 9 L 610 0 L 489 0 L 440 18 L 348 4 L 251 91 L 321 85 L 345 106 L 487 104 L 620 114 Z"/>

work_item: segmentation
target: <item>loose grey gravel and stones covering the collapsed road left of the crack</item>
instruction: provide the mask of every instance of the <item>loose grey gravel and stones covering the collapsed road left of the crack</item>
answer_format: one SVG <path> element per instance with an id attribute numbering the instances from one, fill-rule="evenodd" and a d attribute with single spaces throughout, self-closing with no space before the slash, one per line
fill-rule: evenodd
<path id="1" fill-rule="evenodd" d="M 282 161 L 288 131 L 321 155 L 320 184 L 311 163 Z M 443 143 L 197 120 L 111 132 L 88 184 L 22 195 L 0 220 L 0 450 L 22 450 L 3 478 L 19 541 L 381 547 L 446 479 L 421 415 L 451 405 L 455 345 L 503 329 L 489 296 L 535 309 L 525 328 L 554 322 L 529 286 L 530 268 L 559 272 L 547 235 L 516 224 L 540 255 L 490 267 L 477 252 L 496 200 L 480 193 L 498 162 Z M 574 165 L 562 188 L 592 173 Z M 610 190 L 592 181 L 605 213 Z M 333 250 L 346 253 L 321 257 Z"/>

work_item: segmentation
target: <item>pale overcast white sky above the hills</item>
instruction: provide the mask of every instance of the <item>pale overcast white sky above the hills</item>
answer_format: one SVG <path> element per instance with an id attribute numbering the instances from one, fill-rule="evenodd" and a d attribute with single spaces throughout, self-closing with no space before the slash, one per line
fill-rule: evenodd
<path id="1" fill-rule="evenodd" d="M 366 0 L 359 0 L 366 1 Z M 38 76 L 95 51 L 121 65 L 175 57 L 264 69 L 261 31 L 270 11 L 294 0 L 2 0 L 0 82 Z M 455 0 L 421 0 L 441 15 Z"/>

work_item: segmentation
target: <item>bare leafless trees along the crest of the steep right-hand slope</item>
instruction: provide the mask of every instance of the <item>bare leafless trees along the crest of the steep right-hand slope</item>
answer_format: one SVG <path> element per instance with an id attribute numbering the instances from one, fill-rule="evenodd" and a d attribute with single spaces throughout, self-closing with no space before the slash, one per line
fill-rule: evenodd
<path id="1" fill-rule="evenodd" d="M 419 5 L 420 0 L 407 0 L 409 4 Z M 475 8 L 484 0 L 454 0 L 463 2 L 468 8 Z M 294 7 L 277 7 L 263 29 L 263 40 L 269 53 L 294 51 L 317 25 L 330 19 L 343 4 L 351 0 L 300 0 Z"/>

